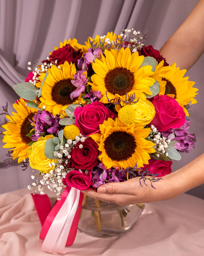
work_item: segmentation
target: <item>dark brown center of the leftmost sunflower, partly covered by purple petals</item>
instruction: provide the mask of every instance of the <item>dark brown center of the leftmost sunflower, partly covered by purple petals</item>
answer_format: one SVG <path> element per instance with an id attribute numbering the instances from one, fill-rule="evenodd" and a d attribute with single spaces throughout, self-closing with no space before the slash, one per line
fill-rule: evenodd
<path id="1" fill-rule="evenodd" d="M 21 128 L 20 128 L 20 136 L 21 136 L 21 140 L 23 143 L 25 144 L 29 144 L 32 140 L 30 139 L 30 137 L 26 136 L 27 134 L 29 134 L 30 130 L 33 129 L 34 127 L 31 125 L 31 122 L 29 121 L 32 120 L 33 116 L 36 114 L 37 112 L 31 112 L 30 114 L 28 114 L 28 116 L 26 116 L 26 118 L 23 120 L 22 124 L 21 124 Z"/>

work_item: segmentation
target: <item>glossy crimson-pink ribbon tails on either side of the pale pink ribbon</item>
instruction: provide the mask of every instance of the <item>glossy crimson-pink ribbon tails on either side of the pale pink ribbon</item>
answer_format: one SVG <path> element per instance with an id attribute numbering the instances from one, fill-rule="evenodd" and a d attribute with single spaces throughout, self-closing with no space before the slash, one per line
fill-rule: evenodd
<path id="1" fill-rule="evenodd" d="M 47 195 L 40 195 L 40 194 L 31 194 L 33 197 L 33 201 L 42 225 L 42 229 L 40 232 L 40 239 L 44 240 L 46 234 L 48 233 L 48 230 L 52 224 L 52 221 L 56 217 L 56 214 L 60 210 L 61 206 L 64 204 L 65 199 L 67 198 L 70 187 L 66 187 L 66 189 L 63 191 L 61 195 L 61 200 L 56 201 L 55 205 L 52 208 L 52 205 L 50 203 L 50 199 Z M 79 206 L 75 213 L 73 222 L 71 224 L 71 229 L 67 238 L 66 246 L 71 246 L 75 240 L 76 232 L 77 232 L 77 226 L 79 223 L 79 217 L 81 213 L 81 207 L 82 207 L 82 201 L 83 201 L 83 193 L 80 193 L 79 196 Z"/>

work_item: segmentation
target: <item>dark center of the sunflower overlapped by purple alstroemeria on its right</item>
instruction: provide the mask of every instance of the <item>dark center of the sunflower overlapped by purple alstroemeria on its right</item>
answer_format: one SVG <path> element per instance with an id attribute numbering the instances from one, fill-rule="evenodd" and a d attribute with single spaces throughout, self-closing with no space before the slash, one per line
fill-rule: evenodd
<path id="1" fill-rule="evenodd" d="M 59 105 L 70 105 L 74 102 L 70 98 L 70 94 L 76 90 L 76 87 L 71 83 L 71 79 L 65 78 L 54 83 L 52 87 L 52 100 Z"/>

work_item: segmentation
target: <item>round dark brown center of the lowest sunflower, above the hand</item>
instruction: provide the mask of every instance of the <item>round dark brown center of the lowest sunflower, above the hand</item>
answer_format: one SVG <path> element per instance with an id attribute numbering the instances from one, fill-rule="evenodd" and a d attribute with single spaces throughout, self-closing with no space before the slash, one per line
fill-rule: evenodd
<path id="1" fill-rule="evenodd" d="M 133 135 L 127 132 L 113 132 L 104 141 L 104 148 L 111 160 L 120 162 L 131 157 L 136 148 Z"/>

